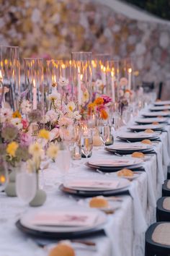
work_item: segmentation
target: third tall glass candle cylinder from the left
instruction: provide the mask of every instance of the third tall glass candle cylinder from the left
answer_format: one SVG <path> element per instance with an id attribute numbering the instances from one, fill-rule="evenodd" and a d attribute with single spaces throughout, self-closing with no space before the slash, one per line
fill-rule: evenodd
<path id="1" fill-rule="evenodd" d="M 71 98 L 71 60 L 47 61 L 48 94 L 60 93 L 64 103 Z M 48 103 L 48 109 L 50 104 Z"/>

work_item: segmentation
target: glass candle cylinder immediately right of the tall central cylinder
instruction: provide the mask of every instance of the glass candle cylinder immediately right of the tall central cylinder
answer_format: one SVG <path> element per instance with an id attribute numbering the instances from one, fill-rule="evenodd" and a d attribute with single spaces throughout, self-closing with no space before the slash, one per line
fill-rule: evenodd
<path id="1" fill-rule="evenodd" d="M 110 59 L 109 54 L 96 54 L 91 61 L 93 90 L 98 95 L 107 93 L 107 61 Z"/>

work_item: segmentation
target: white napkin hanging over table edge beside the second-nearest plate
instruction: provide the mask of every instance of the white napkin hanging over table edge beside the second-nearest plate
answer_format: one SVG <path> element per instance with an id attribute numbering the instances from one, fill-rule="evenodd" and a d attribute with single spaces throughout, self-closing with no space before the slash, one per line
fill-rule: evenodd
<path id="1" fill-rule="evenodd" d="M 140 203 L 138 195 L 138 183 L 133 181 L 130 185 L 129 192 L 131 197 L 133 197 L 133 209 L 134 209 L 134 231 L 135 234 L 141 234 L 146 231 L 147 224 L 144 217 L 142 205 Z"/>

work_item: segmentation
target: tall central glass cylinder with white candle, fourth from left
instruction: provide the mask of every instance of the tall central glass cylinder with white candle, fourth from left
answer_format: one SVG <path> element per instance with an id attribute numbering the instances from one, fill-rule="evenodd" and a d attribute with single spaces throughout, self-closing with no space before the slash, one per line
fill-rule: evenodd
<path id="1" fill-rule="evenodd" d="M 91 52 L 73 52 L 72 99 L 79 109 L 84 109 L 91 101 Z"/>

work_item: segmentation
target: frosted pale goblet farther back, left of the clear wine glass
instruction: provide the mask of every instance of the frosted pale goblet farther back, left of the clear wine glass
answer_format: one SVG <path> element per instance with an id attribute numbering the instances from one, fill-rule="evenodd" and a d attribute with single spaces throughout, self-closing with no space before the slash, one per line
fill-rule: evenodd
<path id="1" fill-rule="evenodd" d="M 71 152 L 68 145 L 64 142 L 59 143 L 59 151 L 56 158 L 56 164 L 60 173 L 62 174 L 61 179 L 64 181 L 66 174 L 71 167 Z"/>

